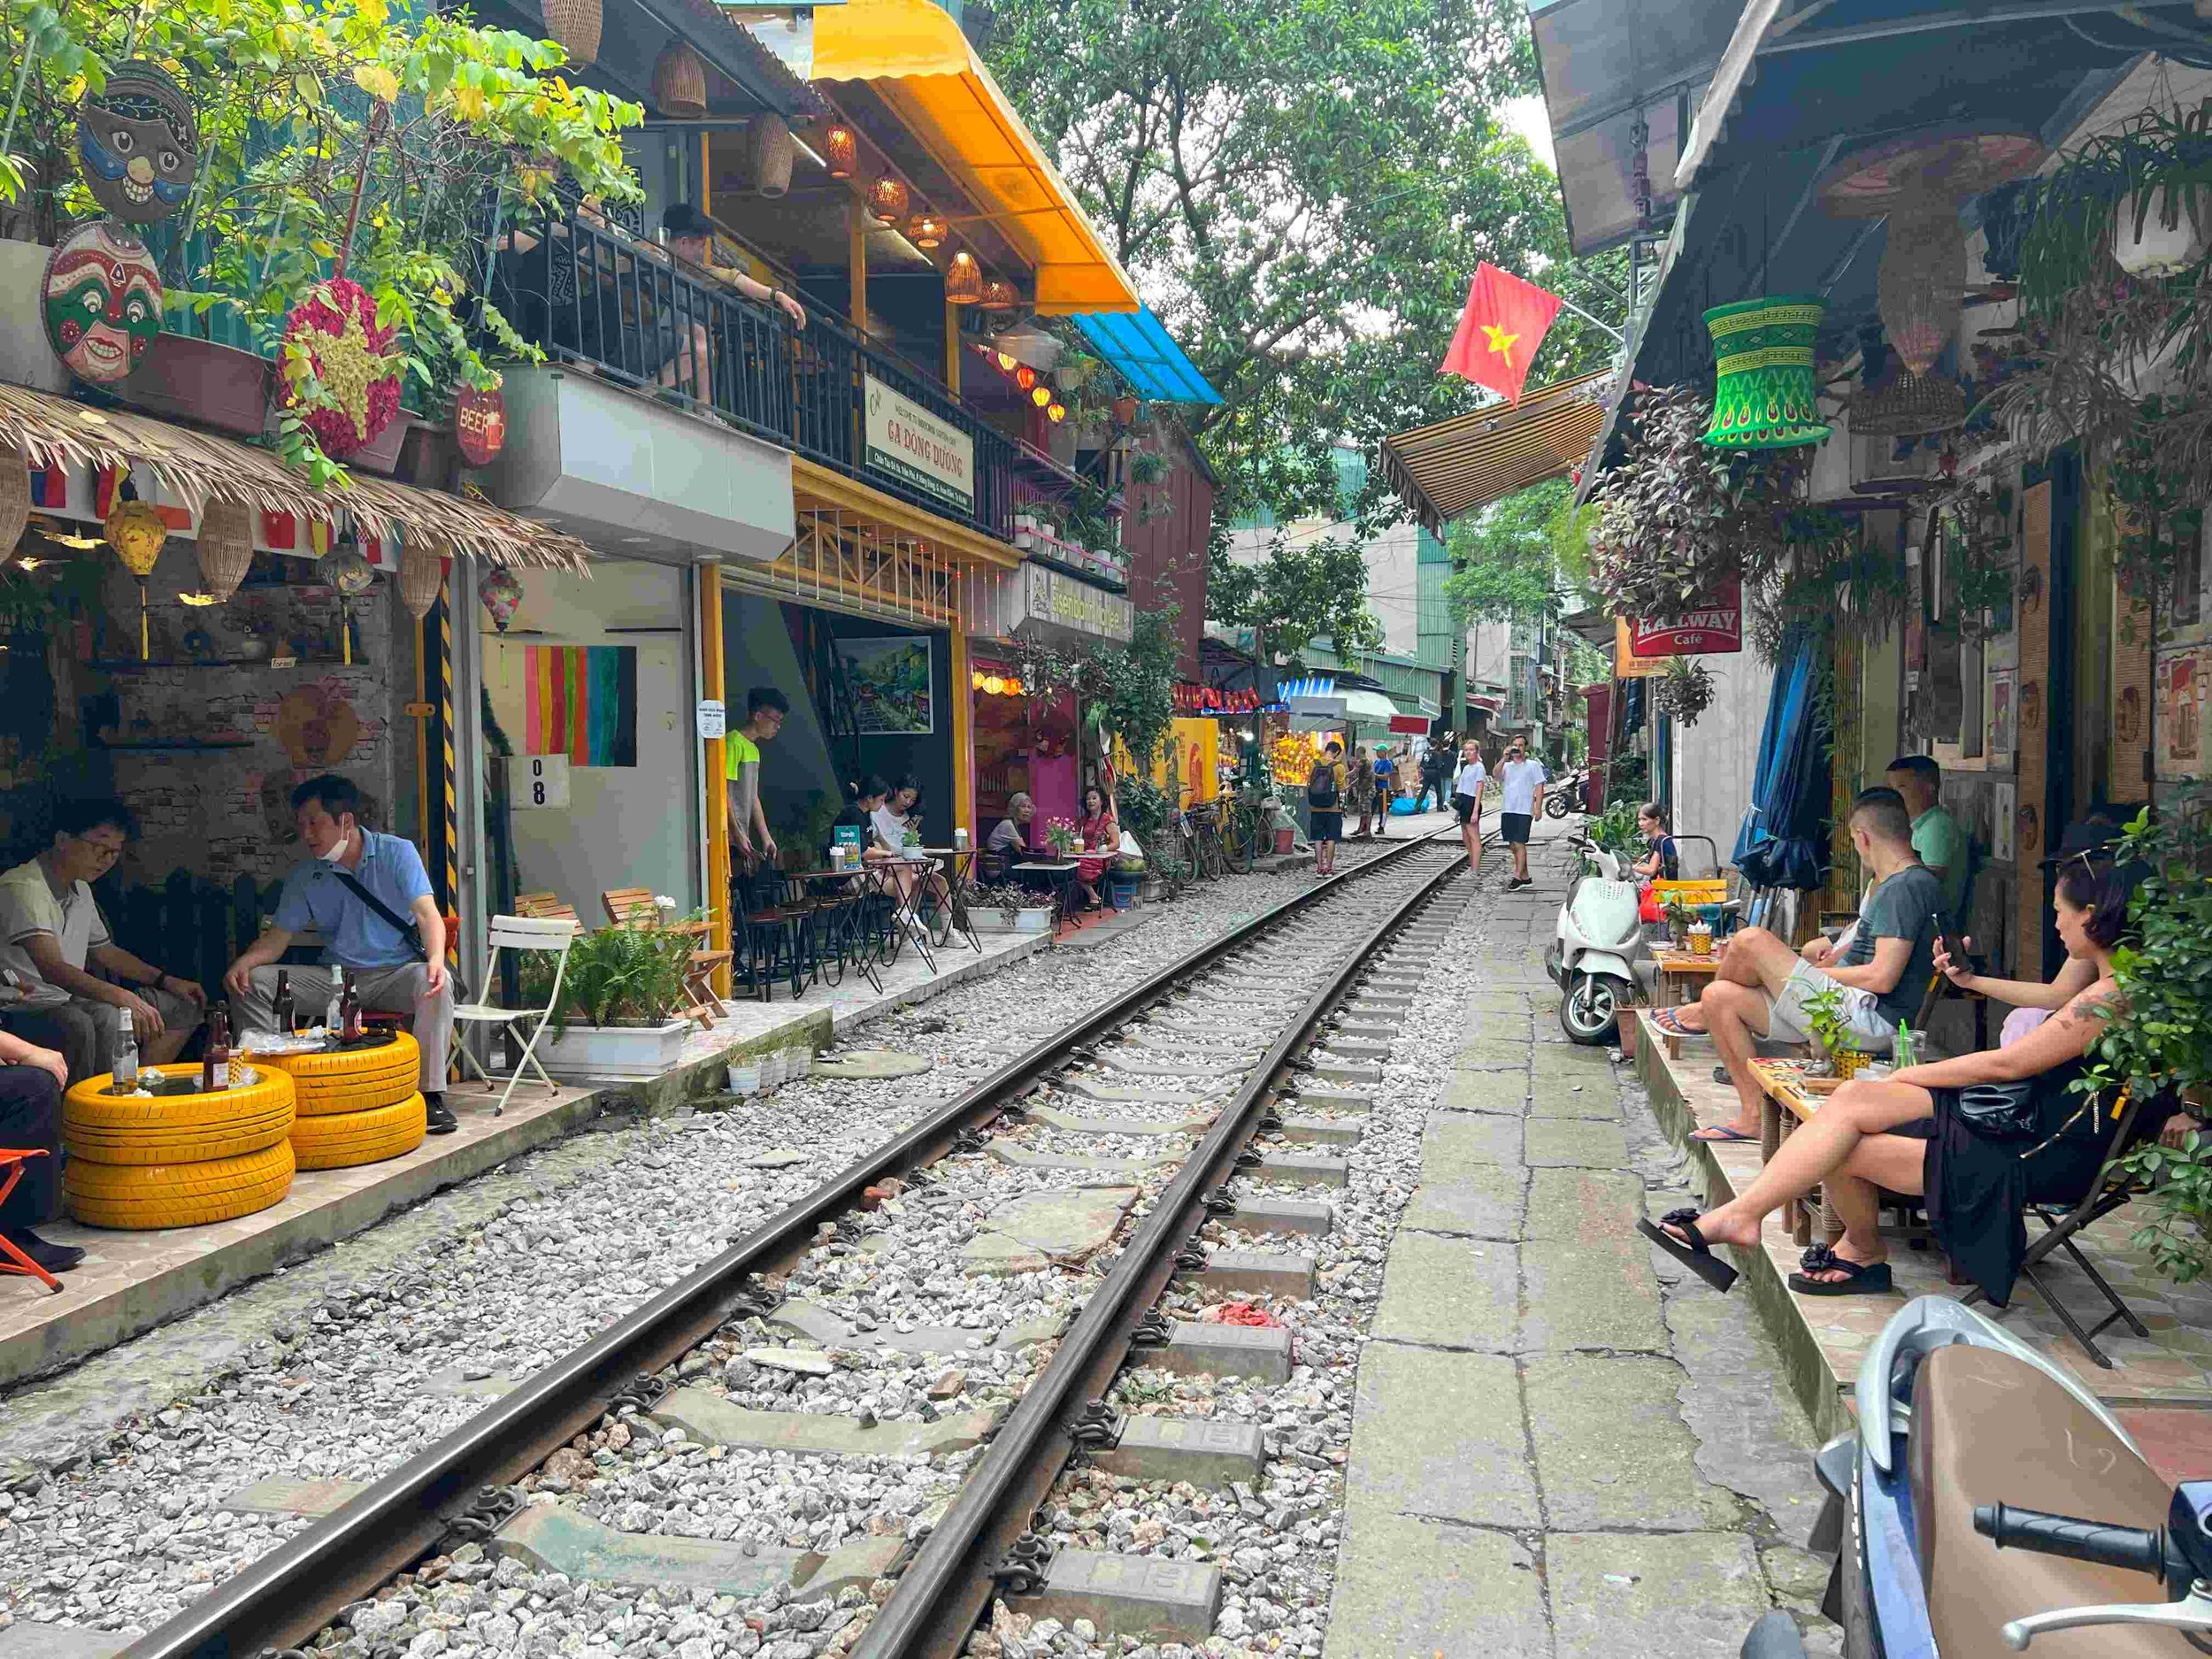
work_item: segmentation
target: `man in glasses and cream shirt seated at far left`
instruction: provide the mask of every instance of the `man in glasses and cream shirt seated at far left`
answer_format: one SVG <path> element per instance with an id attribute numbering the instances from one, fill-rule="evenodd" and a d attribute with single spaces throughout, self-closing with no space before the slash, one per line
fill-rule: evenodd
<path id="1" fill-rule="evenodd" d="M 115 1068 L 126 1009 L 148 1064 L 175 1060 L 208 1013 L 208 993 L 192 980 L 142 962 L 108 938 L 91 883 L 115 865 L 135 832 L 122 801 L 62 801 L 53 843 L 0 876 L 0 967 L 15 991 L 0 1009 L 60 1026 L 71 1077 Z"/>

